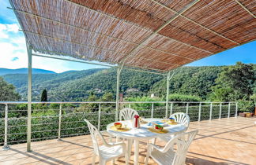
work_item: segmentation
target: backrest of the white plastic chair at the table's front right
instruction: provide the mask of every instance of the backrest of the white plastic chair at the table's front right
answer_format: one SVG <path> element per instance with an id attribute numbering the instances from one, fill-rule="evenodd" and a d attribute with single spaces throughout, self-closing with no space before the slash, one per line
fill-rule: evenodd
<path id="1" fill-rule="evenodd" d="M 170 163 L 171 165 L 183 165 L 186 161 L 186 152 L 190 147 L 191 142 L 194 140 L 194 137 L 198 134 L 198 130 L 191 132 L 186 132 L 176 135 L 174 138 L 171 138 L 170 141 L 164 146 L 162 152 L 169 152 L 170 148 L 174 145 L 177 145 L 175 151 L 175 157 Z"/>

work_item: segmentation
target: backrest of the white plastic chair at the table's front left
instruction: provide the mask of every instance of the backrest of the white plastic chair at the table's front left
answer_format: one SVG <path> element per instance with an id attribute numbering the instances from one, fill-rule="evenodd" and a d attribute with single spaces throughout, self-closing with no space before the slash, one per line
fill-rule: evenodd
<path id="1" fill-rule="evenodd" d="M 90 123 L 88 121 L 88 119 L 85 119 L 85 122 L 87 123 L 88 130 L 90 131 L 90 134 L 91 134 L 92 145 L 93 145 L 93 148 L 94 148 L 94 152 L 96 153 L 96 155 L 100 155 L 100 153 L 99 153 L 99 143 L 98 143 L 97 138 L 99 137 L 100 140 L 104 142 L 104 144 L 106 143 L 106 141 L 103 138 L 102 134 L 100 134 L 100 131 L 96 127 L 94 127 L 92 125 L 92 123 Z"/>

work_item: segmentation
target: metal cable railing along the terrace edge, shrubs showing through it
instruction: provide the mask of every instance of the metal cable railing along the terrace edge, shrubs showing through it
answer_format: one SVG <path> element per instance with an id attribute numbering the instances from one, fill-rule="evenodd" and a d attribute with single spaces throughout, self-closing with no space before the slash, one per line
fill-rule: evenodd
<path id="1" fill-rule="evenodd" d="M 115 122 L 116 102 L 32 102 L 31 126 L 27 124 L 27 102 L 0 102 L 0 146 L 27 141 L 27 127 L 32 128 L 32 141 L 58 139 L 89 134 L 84 119 L 99 130 Z M 236 102 L 180 102 L 170 101 L 121 102 L 121 108 L 134 108 L 145 118 L 166 118 L 184 112 L 190 121 L 221 119 L 237 116 Z M 119 116 L 117 116 L 119 118 Z"/>

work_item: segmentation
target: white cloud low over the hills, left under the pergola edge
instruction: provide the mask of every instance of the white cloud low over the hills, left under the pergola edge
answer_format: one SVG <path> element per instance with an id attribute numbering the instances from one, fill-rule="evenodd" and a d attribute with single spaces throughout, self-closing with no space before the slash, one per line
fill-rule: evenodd
<path id="1" fill-rule="evenodd" d="M 27 68 L 28 56 L 25 38 L 18 24 L 0 24 L 0 68 Z M 91 64 L 32 57 L 32 68 L 42 68 L 54 72 L 102 68 Z"/>

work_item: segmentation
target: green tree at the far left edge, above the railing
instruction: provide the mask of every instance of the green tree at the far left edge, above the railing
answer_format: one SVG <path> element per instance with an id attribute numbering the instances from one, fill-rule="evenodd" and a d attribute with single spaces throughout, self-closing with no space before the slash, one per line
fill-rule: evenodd
<path id="1" fill-rule="evenodd" d="M 0 101 L 18 101 L 20 98 L 15 87 L 0 77 Z"/>

